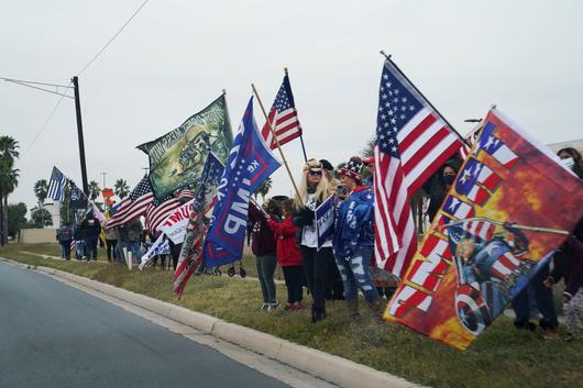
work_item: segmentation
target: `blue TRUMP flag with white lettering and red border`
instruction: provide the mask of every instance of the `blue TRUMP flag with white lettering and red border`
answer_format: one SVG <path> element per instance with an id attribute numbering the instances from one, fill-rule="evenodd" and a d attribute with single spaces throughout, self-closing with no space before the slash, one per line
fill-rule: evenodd
<path id="1" fill-rule="evenodd" d="M 252 97 L 219 182 L 205 244 L 207 268 L 241 259 L 249 198 L 280 165 L 257 130 Z"/>

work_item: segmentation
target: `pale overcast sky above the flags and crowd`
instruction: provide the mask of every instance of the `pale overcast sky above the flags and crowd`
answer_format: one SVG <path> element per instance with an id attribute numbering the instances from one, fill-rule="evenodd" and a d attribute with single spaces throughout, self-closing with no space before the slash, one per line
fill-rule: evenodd
<path id="1" fill-rule="evenodd" d="M 0 77 L 68 84 L 143 0 L 4 1 Z M 233 132 L 251 82 L 268 107 L 289 68 L 309 157 L 358 155 L 375 128 L 383 58 L 393 54 L 461 133 L 492 103 L 544 143 L 583 137 L 582 1 L 151 0 L 80 76 L 89 180 L 133 187 L 135 145 L 180 125 L 227 89 Z M 81 185 L 75 104 L 0 81 L 0 134 L 21 145 L 10 202 L 34 206 L 53 165 Z M 267 108 L 268 109 L 268 108 Z M 258 125 L 263 118 L 255 111 Z M 299 142 L 284 147 L 295 175 Z M 285 169 L 271 195 L 290 193 Z"/>

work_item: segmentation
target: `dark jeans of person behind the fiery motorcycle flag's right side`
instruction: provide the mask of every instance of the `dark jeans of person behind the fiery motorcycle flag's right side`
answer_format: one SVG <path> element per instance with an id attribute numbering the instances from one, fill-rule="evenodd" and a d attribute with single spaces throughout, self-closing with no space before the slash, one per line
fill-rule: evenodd
<path id="1" fill-rule="evenodd" d="M 537 309 L 542 314 L 540 325 L 542 329 L 557 329 L 559 321 L 554 311 L 552 300 L 552 289 L 544 287 L 542 281 L 549 276 L 549 265 L 540 268 L 530 282 L 513 299 L 513 309 L 516 314 L 516 324 L 524 325 L 530 319 L 530 302 L 528 298 L 528 288 L 531 287 L 537 302 Z"/>

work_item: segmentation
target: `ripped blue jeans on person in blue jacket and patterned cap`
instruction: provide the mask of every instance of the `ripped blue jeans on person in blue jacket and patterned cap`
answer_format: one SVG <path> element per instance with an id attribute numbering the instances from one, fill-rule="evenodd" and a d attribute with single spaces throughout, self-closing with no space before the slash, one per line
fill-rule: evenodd
<path id="1" fill-rule="evenodd" d="M 354 252 L 350 258 L 337 257 L 336 263 L 344 282 L 344 298 L 351 301 L 358 297 L 359 288 L 366 301 L 372 302 L 378 298 L 378 291 L 371 281 L 370 266 L 372 258 L 371 248 Z"/>

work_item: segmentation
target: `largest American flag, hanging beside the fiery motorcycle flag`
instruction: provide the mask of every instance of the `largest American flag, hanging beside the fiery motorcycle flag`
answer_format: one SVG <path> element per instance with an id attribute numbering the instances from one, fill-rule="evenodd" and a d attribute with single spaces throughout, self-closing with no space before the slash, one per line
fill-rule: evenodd
<path id="1" fill-rule="evenodd" d="M 386 60 L 375 145 L 376 266 L 403 277 L 417 250 L 410 196 L 462 142 L 429 102 Z"/>

